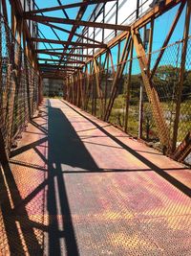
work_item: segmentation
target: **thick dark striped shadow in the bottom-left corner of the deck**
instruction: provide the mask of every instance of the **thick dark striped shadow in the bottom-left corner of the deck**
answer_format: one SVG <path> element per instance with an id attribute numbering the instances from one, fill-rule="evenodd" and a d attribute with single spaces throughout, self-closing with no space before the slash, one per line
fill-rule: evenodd
<path id="1" fill-rule="evenodd" d="M 11 173 L 10 165 L 0 168 L 0 180 L 1 211 L 11 255 L 25 255 L 24 244 L 27 245 L 29 255 L 43 255 L 43 249 L 38 244 L 29 214 L 25 206 L 21 204 L 22 197 Z M 0 224 L 2 225 L 1 221 Z M 9 252 L 7 253 L 6 255 L 10 255 Z"/>

